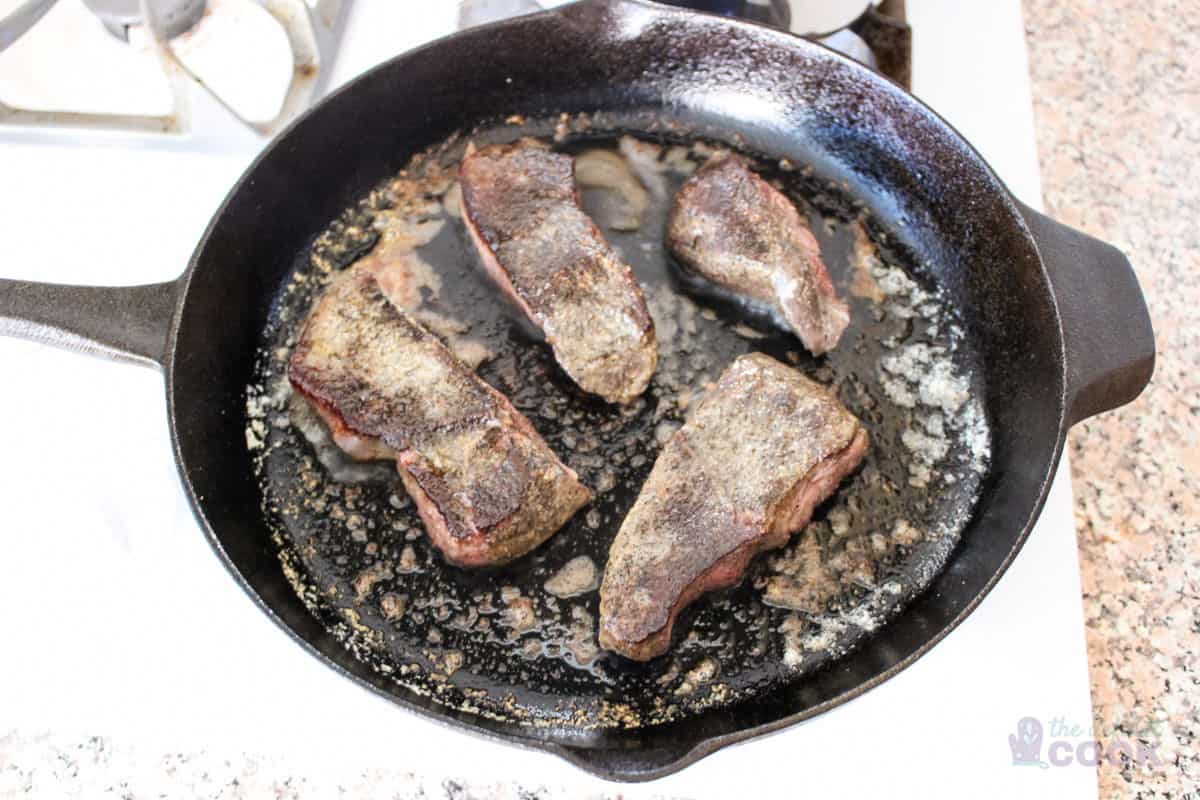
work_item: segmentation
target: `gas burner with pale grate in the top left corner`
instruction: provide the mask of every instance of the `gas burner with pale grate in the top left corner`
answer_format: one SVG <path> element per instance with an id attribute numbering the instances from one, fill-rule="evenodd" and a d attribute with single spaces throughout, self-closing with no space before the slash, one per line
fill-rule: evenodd
<path id="1" fill-rule="evenodd" d="M 17 76 L 22 67 L 40 74 L 40 85 L 16 101 L 0 95 L 0 126 L 205 139 L 228 136 L 232 119 L 234 130 L 274 136 L 320 95 L 347 6 L 349 0 L 24 0 L 0 18 L 0 55 Z M 96 66 L 119 65 L 114 85 L 102 88 L 110 91 L 77 90 L 64 100 L 50 78 L 26 65 L 53 67 L 48 53 L 78 52 L 83 40 L 92 42 L 89 52 L 106 53 L 91 25 L 127 53 Z M 120 80 L 131 74 L 137 86 L 122 94 Z M 44 86 L 52 91 L 40 95 Z"/>

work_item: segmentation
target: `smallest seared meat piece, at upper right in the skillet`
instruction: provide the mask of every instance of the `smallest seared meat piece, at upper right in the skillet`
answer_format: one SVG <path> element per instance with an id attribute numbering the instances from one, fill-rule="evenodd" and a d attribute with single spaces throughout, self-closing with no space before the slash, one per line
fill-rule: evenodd
<path id="1" fill-rule="evenodd" d="M 696 276 L 782 318 L 814 355 L 850 323 L 808 223 L 737 155 L 714 156 L 683 185 L 667 245 Z"/>

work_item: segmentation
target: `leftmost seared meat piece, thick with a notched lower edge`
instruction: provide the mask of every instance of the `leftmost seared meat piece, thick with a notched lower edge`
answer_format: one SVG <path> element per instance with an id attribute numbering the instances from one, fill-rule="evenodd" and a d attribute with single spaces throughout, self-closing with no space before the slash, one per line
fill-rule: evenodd
<path id="1" fill-rule="evenodd" d="M 378 267 L 355 269 L 325 290 L 292 353 L 292 385 L 352 457 L 396 461 L 448 560 L 512 560 L 590 493 L 506 397 L 388 300 L 386 283 Z"/>

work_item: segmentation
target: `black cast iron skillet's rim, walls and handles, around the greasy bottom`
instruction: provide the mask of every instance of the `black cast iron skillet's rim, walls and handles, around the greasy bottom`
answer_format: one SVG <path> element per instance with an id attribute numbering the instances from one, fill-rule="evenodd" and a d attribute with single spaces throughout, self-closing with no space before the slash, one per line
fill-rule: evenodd
<path id="1" fill-rule="evenodd" d="M 284 579 L 246 450 L 245 391 L 269 306 L 298 253 L 416 151 L 512 114 L 670 116 L 811 163 L 901 239 L 958 307 L 982 357 L 991 467 L 930 589 L 817 674 L 720 712 L 635 730 L 532 729 L 451 711 L 352 657 Z M 968 614 L 1042 509 L 1067 429 L 1132 401 L 1153 335 L 1126 258 L 1016 201 L 930 109 L 868 70 L 752 24 L 644 0 L 584 0 L 401 55 L 319 103 L 233 188 L 178 281 L 84 288 L 0 281 L 0 332 L 160 366 L 175 459 L 230 573 L 298 643 L 395 703 L 649 780 L 812 717 L 890 678 Z"/>

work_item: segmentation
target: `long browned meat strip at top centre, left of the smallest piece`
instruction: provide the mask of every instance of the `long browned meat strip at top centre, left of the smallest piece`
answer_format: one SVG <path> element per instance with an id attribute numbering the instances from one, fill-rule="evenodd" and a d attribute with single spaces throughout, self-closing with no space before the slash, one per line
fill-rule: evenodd
<path id="1" fill-rule="evenodd" d="M 488 275 L 584 391 L 626 403 L 658 363 L 654 323 L 629 266 L 580 207 L 575 160 L 522 140 L 469 151 L 463 221 Z"/>

